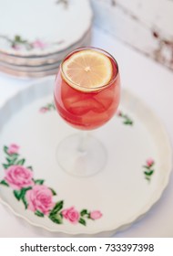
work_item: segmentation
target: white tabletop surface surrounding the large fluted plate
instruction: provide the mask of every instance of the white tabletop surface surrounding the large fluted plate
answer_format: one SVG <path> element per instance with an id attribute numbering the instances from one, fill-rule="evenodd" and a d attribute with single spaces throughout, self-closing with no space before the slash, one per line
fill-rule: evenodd
<path id="1" fill-rule="evenodd" d="M 165 124 L 173 144 L 173 73 L 144 57 L 127 45 L 95 28 L 93 46 L 105 48 L 119 64 L 122 87 L 133 91 L 158 114 Z M 18 80 L 0 73 L 0 106 L 17 91 L 25 90 L 31 80 Z M 52 237 L 18 219 L 0 205 L 0 237 Z M 158 204 L 145 218 L 115 237 L 171 237 L 173 238 L 173 175 Z"/>

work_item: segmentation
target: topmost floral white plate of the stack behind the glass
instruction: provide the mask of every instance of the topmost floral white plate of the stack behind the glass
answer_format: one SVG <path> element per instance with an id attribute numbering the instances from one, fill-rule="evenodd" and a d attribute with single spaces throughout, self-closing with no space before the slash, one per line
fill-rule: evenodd
<path id="1" fill-rule="evenodd" d="M 0 0 L 0 6 L 0 51 L 15 56 L 65 50 L 84 37 L 92 23 L 89 0 Z"/>

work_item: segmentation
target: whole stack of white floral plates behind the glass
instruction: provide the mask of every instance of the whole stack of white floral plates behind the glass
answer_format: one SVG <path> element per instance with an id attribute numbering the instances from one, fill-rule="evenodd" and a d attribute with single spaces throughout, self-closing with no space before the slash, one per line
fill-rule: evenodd
<path id="1" fill-rule="evenodd" d="M 0 71 L 18 77 L 56 74 L 61 60 L 88 46 L 89 0 L 0 0 Z"/>

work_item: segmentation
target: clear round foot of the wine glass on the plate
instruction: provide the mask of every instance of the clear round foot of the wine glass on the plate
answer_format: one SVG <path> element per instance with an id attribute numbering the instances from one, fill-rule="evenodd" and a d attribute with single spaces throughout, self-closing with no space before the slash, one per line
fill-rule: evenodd
<path id="1" fill-rule="evenodd" d="M 71 176 L 94 176 L 107 163 L 104 145 L 90 134 L 66 137 L 56 149 L 58 164 Z"/>

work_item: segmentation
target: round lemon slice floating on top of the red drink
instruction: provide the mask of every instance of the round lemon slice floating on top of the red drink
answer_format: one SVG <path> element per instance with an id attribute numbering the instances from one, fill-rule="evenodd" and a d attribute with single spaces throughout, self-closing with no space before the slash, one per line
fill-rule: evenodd
<path id="1" fill-rule="evenodd" d="M 111 60 L 93 49 L 77 51 L 62 65 L 63 78 L 78 91 L 97 91 L 112 78 Z"/>

